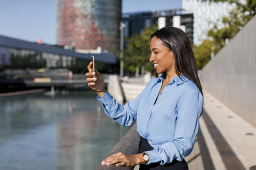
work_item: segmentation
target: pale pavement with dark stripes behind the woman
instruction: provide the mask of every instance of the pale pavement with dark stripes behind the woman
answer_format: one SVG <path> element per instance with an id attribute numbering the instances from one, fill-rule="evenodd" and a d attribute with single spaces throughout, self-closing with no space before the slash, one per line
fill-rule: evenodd
<path id="1" fill-rule="evenodd" d="M 122 86 L 127 95 L 133 87 L 140 93 L 145 83 L 129 80 Z M 132 94 L 136 96 L 134 90 Z M 131 100 L 132 96 L 128 98 Z M 204 90 L 200 130 L 193 151 L 185 160 L 190 170 L 256 169 L 256 127 Z"/>

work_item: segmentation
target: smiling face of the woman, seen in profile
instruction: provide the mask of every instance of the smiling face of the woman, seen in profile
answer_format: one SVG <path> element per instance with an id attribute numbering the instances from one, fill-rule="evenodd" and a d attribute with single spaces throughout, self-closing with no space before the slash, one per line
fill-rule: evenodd
<path id="1" fill-rule="evenodd" d="M 175 60 L 173 51 L 164 45 L 162 40 L 154 36 L 150 42 L 150 62 L 157 73 L 175 73 Z"/>

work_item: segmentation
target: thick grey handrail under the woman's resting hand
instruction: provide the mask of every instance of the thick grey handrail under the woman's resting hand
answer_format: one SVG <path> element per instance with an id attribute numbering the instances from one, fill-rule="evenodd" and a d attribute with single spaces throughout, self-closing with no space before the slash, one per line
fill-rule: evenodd
<path id="1" fill-rule="evenodd" d="M 107 154 L 110 156 L 116 154 L 119 151 L 125 154 L 138 154 L 138 145 L 140 141 L 140 136 L 136 131 L 136 124 L 131 127 L 131 130 L 125 134 L 125 136 L 120 140 L 118 144 Z M 106 157 L 107 157 L 106 156 Z M 116 167 L 116 165 L 98 165 L 95 170 L 132 170 L 134 167 Z"/>

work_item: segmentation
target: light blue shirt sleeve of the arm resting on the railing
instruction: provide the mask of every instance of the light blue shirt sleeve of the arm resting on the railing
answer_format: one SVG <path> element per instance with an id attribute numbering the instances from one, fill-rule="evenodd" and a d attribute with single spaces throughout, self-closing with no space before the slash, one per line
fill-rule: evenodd
<path id="1" fill-rule="evenodd" d="M 186 97 L 177 106 L 173 140 L 153 147 L 151 151 L 145 151 L 149 155 L 147 164 L 160 162 L 160 165 L 164 165 L 171 163 L 174 159 L 181 162 L 191 153 L 198 134 L 203 104 L 204 99 L 199 90 L 193 90 L 190 94 L 186 93 Z"/>

